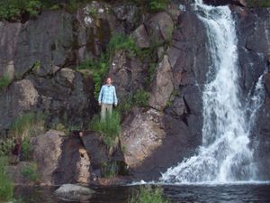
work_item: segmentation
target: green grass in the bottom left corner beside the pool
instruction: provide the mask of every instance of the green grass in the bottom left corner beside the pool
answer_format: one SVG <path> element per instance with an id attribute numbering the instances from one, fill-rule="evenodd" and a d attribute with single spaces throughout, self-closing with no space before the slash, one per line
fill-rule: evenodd
<path id="1" fill-rule="evenodd" d="M 7 163 L 7 157 L 0 157 L 0 202 L 10 201 L 14 197 L 13 182 L 5 171 Z"/>

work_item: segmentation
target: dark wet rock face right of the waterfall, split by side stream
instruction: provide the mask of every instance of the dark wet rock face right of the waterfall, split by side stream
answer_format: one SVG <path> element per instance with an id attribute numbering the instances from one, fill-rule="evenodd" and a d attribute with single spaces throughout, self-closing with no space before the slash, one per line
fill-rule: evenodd
<path id="1" fill-rule="evenodd" d="M 241 77 L 240 86 L 243 97 L 252 92 L 258 78 L 269 69 L 267 60 L 269 56 L 269 9 L 235 9 L 233 14 L 236 19 L 238 31 L 238 57 Z M 270 167 L 270 99 L 269 99 L 269 73 L 264 76 L 266 88 L 264 105 L 257 112 L 257 122 L 250 135 L 250 145 L 255 149 L 254 160 L 258 167 L 258 179 L 268 180 Z"/>

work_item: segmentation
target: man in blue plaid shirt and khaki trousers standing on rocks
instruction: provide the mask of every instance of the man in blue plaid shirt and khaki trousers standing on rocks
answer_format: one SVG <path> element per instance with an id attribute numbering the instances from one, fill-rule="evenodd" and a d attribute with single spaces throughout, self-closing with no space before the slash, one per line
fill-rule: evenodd
<path id="1" fill-rule="evenodd" d="M 114 86 L 112 86 L 112 78 L 106 79 L 106 84 L 103 85 L 99 92 L 98 104 L 101 106 L 101 119 L 105 120 L 106 114 L 112 115 L 112 105 L 117 106 L 117 97 Z"/>

